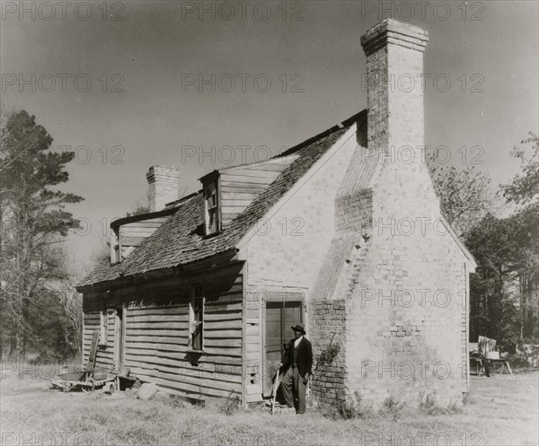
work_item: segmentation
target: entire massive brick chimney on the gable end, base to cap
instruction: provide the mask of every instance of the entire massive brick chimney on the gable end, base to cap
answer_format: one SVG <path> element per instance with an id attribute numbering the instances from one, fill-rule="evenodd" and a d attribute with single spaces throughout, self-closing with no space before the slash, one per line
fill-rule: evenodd
<path id="1" fill-rule="evenodd" d="M 467 390 L 474 266 L 444 229 L 424 159 L 427 41 L 427 31 L 392 20 L 361 38 L 367 150 L 358 146 L 347 171 L 356 177 L 336 199 L 337 231 L 320 273 L 328 279 L 309 302 L 315 360 L 337 352 L 314 373 L 314 397 L 325 404 L 358 392 L 376 406 L 429 396 L 445 407 Z M 358 153 L 366 153 L 360 162 Z"/>

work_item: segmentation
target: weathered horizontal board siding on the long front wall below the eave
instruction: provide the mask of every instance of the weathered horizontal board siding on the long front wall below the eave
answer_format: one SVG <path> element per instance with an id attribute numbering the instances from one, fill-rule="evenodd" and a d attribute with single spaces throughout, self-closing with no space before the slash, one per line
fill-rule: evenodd
<path id="1" fill-rule="evenodd" d="M 190 288 L 204 289 L 204 351 L 189 350 Z M 112 293 L 110 293 L 112 294 Z M 140 380 L 190 398 L 243 395 L 243 273 L 242 265 L 214 268 L 199 275 L 174 277 L 117 290 L 108 306 L 123 305 L 125 365 Z M 97 296 L 84 295 L 84 354 L 98 329 Z M 98 365 L 114 358 L 114 316 L 109 345 Z"/>

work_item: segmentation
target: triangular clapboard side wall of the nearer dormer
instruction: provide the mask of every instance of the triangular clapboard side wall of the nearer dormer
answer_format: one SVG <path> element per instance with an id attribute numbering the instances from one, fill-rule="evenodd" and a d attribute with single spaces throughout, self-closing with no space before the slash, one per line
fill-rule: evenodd
<path id="1" fill-rule="evenodd" d="M 241 214 L 295 159 L 271 159 L 220 171 L 222 226 L 226 227 Z"/>

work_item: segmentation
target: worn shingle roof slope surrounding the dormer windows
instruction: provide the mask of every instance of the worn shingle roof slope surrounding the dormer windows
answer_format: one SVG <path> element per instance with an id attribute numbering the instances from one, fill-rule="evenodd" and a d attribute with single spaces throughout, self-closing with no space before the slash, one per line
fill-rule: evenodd
<path id="1" fill-rule="evenodd" d="M 360 120 L 366 119 L 364 112 L 356 116 L 359 116 Z M 120 275 L 126 277 L 147 271 L 179 267 L 234 249 L 235 244 L 252 225 L 292 188 L 340 136 L 344 135 L 353 125 L 354 118 L 344 121 L 344 127 L 332 127 L 323 134 L 288 149 L 286 153 L 281 153 L 281 155 L 298 153 L 299 156 L 223 232 L 213 237 L 203 236 L 204 202 L 202 195 L 196 194 L 179 203 L 177 211 L 144 240 L 124 262 L 110 266 L 110 259 L 103 258 L 79 287 L 109 282 Z"/>

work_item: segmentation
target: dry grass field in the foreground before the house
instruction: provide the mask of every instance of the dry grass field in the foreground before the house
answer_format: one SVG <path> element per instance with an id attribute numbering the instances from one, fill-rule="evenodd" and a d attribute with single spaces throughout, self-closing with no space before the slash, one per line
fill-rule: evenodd
<path id="1" fill-rule="evenodd" d="M 427 415 L 417 407 L 333 420 L 317 411 L 225 415 L 221 403 L 195 407 L 161 395 L 48 391 L 47 380 L 2 377 L 2 445 L 537 445 L 539 373 L 472 378 L 460 413 Z"/>

